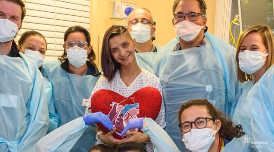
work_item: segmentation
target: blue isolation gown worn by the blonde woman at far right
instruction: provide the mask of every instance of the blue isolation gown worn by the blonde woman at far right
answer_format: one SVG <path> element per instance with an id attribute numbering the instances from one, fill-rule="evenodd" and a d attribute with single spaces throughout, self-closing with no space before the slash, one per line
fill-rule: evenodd
<path id="1" fill-rule="evenodd" d="M 234 138 L 224 152 L 274 152 L 274 66 L 253 83 L 244 84 L 233 115 L 245 135 Z"/>

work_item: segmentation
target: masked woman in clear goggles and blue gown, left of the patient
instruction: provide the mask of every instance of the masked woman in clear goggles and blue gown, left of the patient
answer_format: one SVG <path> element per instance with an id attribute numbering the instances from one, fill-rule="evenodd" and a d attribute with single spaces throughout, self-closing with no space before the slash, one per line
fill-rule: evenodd
<path id="1" fill-rule="evenodd" d="M 59 61 L 45 62 L 42 74 L 53 86 L 53 101 L 61 126 L 85 114 L 88 99 L 101 73 L 95 61 L 88 30 L 70 27 L 64 35 L 64 54 Z M 94 127 L 86 129 L 71 152 L 87 152 L 95 144 Z"/>

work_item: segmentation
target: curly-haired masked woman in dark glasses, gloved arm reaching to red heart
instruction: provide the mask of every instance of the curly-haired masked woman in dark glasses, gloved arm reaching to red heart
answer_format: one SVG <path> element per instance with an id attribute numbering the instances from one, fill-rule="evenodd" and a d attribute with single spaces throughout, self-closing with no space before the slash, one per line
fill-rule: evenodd
<path id="1" fill-rule="evenodd" d="M 181 140 L 191 152 L 221 152 L 229 141 L 245 134 L 241 125 L 234 126 L 206 99 L 189 100 L 182 104 L 178 119 L 183 135 Z M 122 134 L 132 128 L 141 128 L 150 137 L 156 147 L 154 152 L 180 152 L 169 135 L 153 120 L 133 119 Z"/>

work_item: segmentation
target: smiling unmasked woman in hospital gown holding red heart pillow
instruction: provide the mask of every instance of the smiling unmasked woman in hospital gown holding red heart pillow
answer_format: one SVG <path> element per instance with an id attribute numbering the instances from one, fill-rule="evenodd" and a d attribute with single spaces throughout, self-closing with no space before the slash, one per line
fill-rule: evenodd
<path id="1" fill-rule="evenodd" d="M 104 77 L 98 80 L 91 93 L 87 113 L 102 111 L 109 115 L 116 128 L 109 131 L 99 125 L 104 133 L 99 135 L 98 142 L 102 140 L 107 145 L 125 140 L 149 142 L 149 137 L 137 130 L 121 135 L 126 123 L 138 117 L 152 118 L 161 127 L 166 125 L 160 81 L 137 65 L 134 41 L 125 27 L 112 26 L 105 32 L 101 61 Z M 153 152 L 150 142 L 145 145 L 148 152 Z"/>

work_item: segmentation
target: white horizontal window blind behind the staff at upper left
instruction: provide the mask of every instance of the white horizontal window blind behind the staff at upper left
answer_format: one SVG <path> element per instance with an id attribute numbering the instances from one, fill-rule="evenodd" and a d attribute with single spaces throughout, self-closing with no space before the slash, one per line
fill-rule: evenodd
<path id="1" fill-rule="evenodd" d="M 63 54 L 64 33 L 74 25 L 90 29 L 90 0 L 24 0 L 27 12 L 15 41 L 28 30 L 44 35 L 47 41 L 45 60 Z"/>

